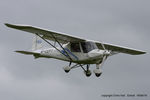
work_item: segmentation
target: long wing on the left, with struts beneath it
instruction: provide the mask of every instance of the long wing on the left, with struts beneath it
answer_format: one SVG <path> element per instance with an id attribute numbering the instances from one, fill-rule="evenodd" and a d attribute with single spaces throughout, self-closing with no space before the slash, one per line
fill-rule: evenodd
<path id="1" fill-rule="evenodd" d="M 81 38 L 78 38 L 75 36 L 70 36 L 67 34 L 49 31 L 49 30 L 38 28 L 38 27 L 27 26 L 27 25 L 12 25 L 12 24 L 8 24 L 8 23 L 5 23 L 5 25 L 10 28 L 30 32 L 33 34 L 42 35 L 43 38 L 45 38 L 47 40 L 51 40 L 51 41 L 55 41 L 55 38 L 61 43 L 85 41 L 84 39 L 81 39 Z"/>

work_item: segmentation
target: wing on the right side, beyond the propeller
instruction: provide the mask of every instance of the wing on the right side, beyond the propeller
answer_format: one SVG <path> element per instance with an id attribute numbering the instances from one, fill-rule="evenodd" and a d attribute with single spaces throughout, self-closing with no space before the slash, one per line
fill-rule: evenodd
<path id="1" fill-rule="evenodd" d="M 95 43 L 99 49 L 103 49 L 101 42 L 95 42 Z M 144 51 L 135 50 L 135 49 L 127 48 L 127 47 L 116 46 L 112 44 L 103 43 L 103 45 L 105 46 L 107 50 L 111 50 L 112 52 L 126 53 L 126 54 L 131 54 L 131 55 L 140 55 L 140 54 L 146 53 Z"/>

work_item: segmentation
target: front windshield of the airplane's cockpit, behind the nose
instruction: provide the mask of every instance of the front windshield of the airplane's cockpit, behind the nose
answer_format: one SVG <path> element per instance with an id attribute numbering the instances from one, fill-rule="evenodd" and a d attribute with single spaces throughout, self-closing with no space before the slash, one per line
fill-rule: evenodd
<path id="1" fill-rule="evenodd" d="M 81 42 L 81 46 L 84 53 L 88 53 L 93 49 L 97 49 L 97 46 L 93 42 Z"/>

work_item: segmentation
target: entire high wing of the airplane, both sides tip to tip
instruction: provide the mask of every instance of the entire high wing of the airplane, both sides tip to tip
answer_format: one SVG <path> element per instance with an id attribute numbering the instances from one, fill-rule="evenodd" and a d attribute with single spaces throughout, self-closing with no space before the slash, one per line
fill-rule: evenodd
<path id="1" fill-rule="evenodd" d="M 47 40 L 55 41 L 55 38 L 56 38 L 61 43 L 86 41 L 85 39 L 81 39 L 81 38 L 78 38 L 75 36 L 70 36 L 67 34 L 53 32 L 53 31 L 49 31 L 49 30 L 45 30 L 45 29 L 41 29 L 41 28 L 37 28 L 37 27 L 33 27 L 33 26 L 12 25 L 12 24 L 8 24 L 8 23 L 6 23 L 5 25 L 10 28 L 30 32 L 33 34 L 42 35 L 42 37 Z M 103 49 L 101 42 L 95 42 L 95 43 L 97 44 L 99 49 Z M 130 48 L 126 48 L 126 47 L 116 46 L 116 45 L 112 45 L 112 44 L 106 44 L 106 43 L 103 43 L 103 44 L 106 49 L 111 50 L 113 52 L 126 53 L 126 54 L 131 54 L 131 55 L 139 55 L 139 54 L 146 53 L 144 51 L 139 51 L 139 50 L 130 49 Z"/>

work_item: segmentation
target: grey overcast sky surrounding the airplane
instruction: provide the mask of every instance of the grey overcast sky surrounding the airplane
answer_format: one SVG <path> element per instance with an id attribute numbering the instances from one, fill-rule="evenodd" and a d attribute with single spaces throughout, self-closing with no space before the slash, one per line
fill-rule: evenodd
<path id="1" fill-rule="evenodd" d="M 0 0 L 0 100 L 149 100 L 149 5 L 149 0 Z M 62 68 L 67 62 L 13 52 L 30 50 L 33 35 L 4 23 L 34 25 L 147 54 L 108 58 L 99 78 L 87 78 L 80 68 L 66 74 Z M 148 96 L 101 96 L 131 93 Z"/>

